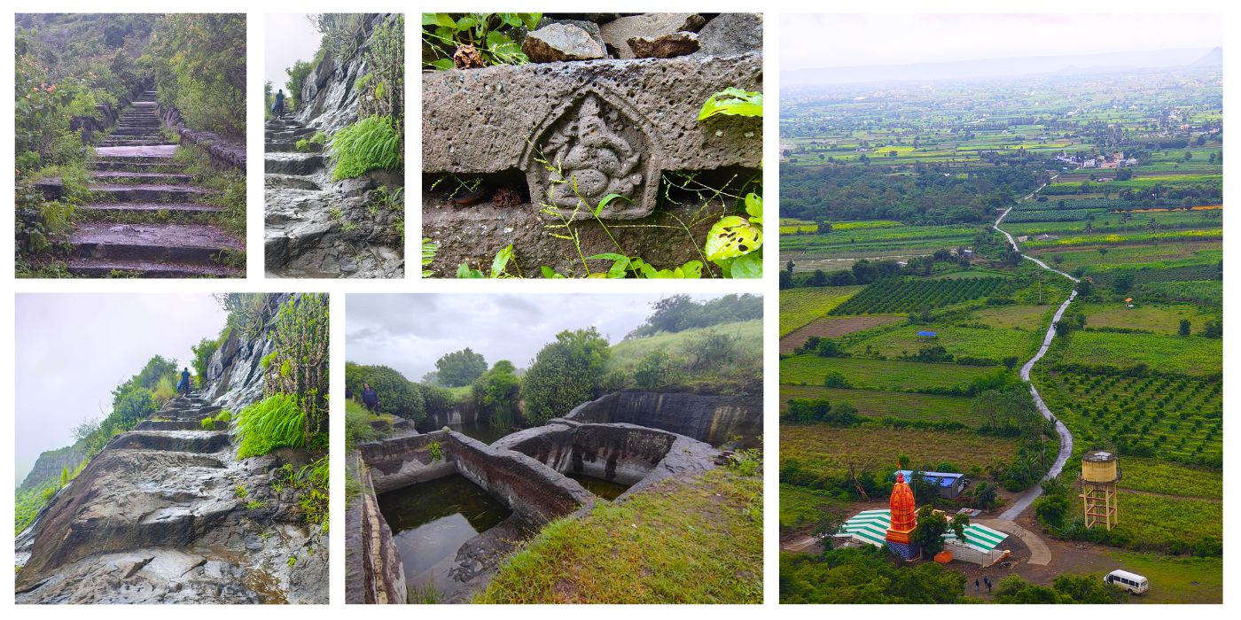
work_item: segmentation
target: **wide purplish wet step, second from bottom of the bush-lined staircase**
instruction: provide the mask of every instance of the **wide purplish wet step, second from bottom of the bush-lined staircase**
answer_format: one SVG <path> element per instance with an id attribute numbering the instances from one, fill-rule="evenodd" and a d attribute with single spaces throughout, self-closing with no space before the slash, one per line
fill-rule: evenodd
<path id="1" fill-rule="evenodd" d="M 242 241 L 207 224 L 118 224 L 82 222 L 69 236 L 82 258 L 212 263 L 223 250 L 241 250 Z"/>

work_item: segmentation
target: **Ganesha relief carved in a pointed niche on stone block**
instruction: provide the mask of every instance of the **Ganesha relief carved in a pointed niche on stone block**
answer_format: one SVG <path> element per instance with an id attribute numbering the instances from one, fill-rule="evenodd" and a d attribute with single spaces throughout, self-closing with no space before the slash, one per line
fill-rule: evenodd
<path id="1" fill-rule="evenodd" d="M 575 97 L 536 134 L 526 156 L 531 198 L 566 218 L 645 217 L 655 208 L 659 171 L 635 114 L 594 89 Z"/>

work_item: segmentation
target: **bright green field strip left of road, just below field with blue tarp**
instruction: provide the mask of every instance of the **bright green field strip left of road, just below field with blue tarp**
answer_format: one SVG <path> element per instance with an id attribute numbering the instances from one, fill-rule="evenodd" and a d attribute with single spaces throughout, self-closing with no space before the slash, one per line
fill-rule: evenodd
<path id="1" fill-rule="evenodd" d="M 779 365 L 782 384 L 822 386 L 828 371 L 844 374 L 849 386 L 867 389 L 913 392 L 918 389 L 965 387 L 973 379 L 994 372 L 997 366 L 958 366 L 896 360 L 818 357 L 798 355 Z"/>

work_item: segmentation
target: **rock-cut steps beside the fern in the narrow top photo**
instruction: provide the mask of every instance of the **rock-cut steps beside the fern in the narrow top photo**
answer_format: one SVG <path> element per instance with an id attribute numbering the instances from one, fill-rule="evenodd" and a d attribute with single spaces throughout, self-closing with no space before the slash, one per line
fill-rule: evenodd
<path id="1" fill-rule="evenodd" d="M 369 210 L 369 179 L 334 182 L 316 129 L 292 115 L 264 126 L 264 246 L 278 278 L 400 278 L 403 248 L 386 238 L 391 213 Z M 307 140 L 303 150 L 298 141 Z"/>

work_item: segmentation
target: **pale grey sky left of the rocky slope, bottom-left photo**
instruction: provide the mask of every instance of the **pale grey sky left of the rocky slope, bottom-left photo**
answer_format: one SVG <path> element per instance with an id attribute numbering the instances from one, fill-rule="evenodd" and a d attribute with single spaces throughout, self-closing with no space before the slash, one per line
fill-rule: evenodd
<path id="1" fill-rule="evenodd" d="M 189 366 L 190 347 L 217 336 L 225 319 L 211 295 L 17 295 L 17 484 L 40 453 L 107 414 L 112 389 L 148 360 Z"/>

